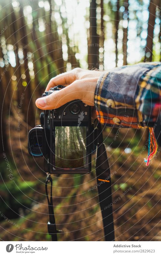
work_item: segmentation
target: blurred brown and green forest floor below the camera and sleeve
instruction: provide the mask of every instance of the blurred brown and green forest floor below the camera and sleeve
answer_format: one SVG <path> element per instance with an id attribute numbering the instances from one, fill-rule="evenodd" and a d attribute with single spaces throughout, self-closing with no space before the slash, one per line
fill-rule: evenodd
<path id="1" fill-rule="evenodd" d="M 43 159 L 34 160 L 29 156 L 27 127 L 21 125 L 21 131 L 17 132 L 15 119 L 10 119 L 8 143 L 12 153 L 8 160 L 15 179 L 8 180 L 5 174 L 6 166 L 2 160 L 4 179 L 1 180 L 0 191 L 4 201 L 1 204 L 3 210 L 0 238 L 2 241 L 50 241 L 51 237 L 47 234 L 48 205 L 44 183 L 46 174 L 42 170 Z M 113 203 L 115 240 L 159 241 L 160 154 L 146 167 L 144 157 L 147 156 L 147 149 L 141 154 L 140 151 L 145 145 L 147 132 L 143 139 L 141 137 L 145 130 L 136 132 L 133 129 L 121 129 L 117 141 L 109 147 L 115 132 L 115 129 L 112 131 L 110 128 L 104 128 L 104 137 L 108 136 L 105 144 L 111 173 L 116 172 L 111 177 L 112 200 L 116 201 Z M 132 150 L 130 153 L 125 153 L 127 146 Z M 52 176 L 57 229 L 63 230 L 63 233 L 58 234 L 61 241 L 104 240 L 95 189 L 94 158 L 93 155 L 91 174 Z M 128 192 L 124 193 L 125 191 Z"/>

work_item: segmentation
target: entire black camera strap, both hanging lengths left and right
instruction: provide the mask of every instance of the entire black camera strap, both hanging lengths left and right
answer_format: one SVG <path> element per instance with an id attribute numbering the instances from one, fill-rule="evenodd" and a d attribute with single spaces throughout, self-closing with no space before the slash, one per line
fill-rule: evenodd
<path id="1" fill-rule="evenodd" d="M 106 153 L 105 144 L 103 144 L 102 128 L 100 123 L 97 124 L 97 134 L 95 143 L 97 144 L 96 149 L 96 180 L 99 195 L 99 204 L 101 207 L 103 228 L 105 234 L 105 241 L 114 241 L 114 225 L 113 225 L 113 214 L 112 214 L 112 194 L 111 194 L 111 178 L 108 157 Z M 51 182 L 50 200 L 48 196 L 47 185 Z M 48 232 L 52 236 L 52 241 L 57 241 L 57 233 L 62 230 L 56 229 L 54 208 L 52 202 L 52 178 L 47 173 L 47 179 L 45 182 L 45 190 L 49 207 L 49 222 Z"/>

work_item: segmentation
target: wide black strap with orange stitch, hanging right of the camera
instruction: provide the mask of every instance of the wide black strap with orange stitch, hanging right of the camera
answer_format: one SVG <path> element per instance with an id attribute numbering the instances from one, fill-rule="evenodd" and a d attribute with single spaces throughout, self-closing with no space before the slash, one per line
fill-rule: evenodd
<path id="1" fill-rule="evenodd" d="M 112 214 L 112 192 L 109 161 L 103 143 L 102 128 L 97 124 L 98 139 L 96 149 L 96 180 L 99 195 L 99 204 L 103 219 L 105 241 L 115 241 L 114 224 Z"/>

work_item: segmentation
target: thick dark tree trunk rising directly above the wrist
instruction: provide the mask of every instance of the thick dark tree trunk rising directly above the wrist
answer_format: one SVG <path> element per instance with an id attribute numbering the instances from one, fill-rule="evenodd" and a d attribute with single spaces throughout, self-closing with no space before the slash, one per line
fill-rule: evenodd
<path id="1" fill-rule="evenodd" d="M 99 36 L 97 34 L 96 0 L 90 2 L 90 37 L 88 40 L 88 68 L 99 68 Z"/>

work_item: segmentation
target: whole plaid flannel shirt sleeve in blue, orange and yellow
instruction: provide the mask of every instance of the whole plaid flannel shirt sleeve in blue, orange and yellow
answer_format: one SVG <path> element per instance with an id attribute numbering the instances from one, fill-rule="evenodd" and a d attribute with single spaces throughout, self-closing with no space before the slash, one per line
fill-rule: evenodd
<path id="1" fill-rule="evenodd" d="M 95 90 L 97 118 L 103 125 L 153 127 L 160 108 L 161 63 L 139 63 L 103 72 Z"/>

